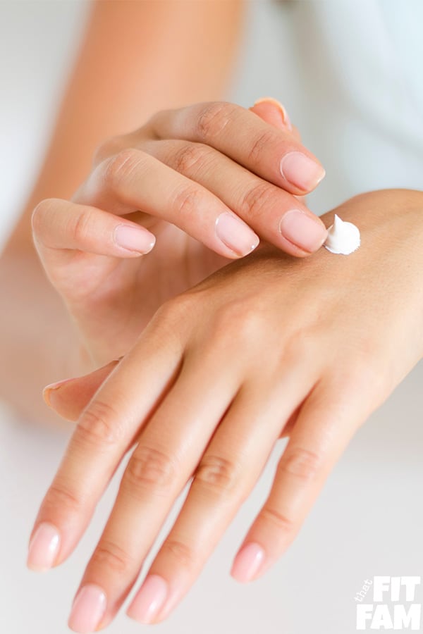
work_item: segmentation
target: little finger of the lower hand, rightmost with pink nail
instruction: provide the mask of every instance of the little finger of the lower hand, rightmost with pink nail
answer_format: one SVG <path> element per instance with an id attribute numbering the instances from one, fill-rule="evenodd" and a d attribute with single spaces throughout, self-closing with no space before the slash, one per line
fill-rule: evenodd
<path id="1" fill-rule="evenodd" d="M 364 376 L 348 386 L 327 380 L 307 397 L 278 462 L 271 492 L 233 561 L 235 579 L 247 582 L 262 576 L 298 534 L 350 438 L 376 407 L 371 386 Z M 259 549 L 262 559 L 257 562 Z"/>

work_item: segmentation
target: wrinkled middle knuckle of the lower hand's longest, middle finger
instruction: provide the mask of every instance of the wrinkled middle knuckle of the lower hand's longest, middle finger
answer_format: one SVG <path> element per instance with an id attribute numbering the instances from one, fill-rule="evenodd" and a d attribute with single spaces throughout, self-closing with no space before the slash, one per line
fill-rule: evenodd
<path id="1" fill-rule="evenodd" d="M 128 463 L 122 483 L 131 495 L 147 490 L 167 496 L 176 482 L 176 475 L 174 459 L 159 449 L 138 445 Z"/>

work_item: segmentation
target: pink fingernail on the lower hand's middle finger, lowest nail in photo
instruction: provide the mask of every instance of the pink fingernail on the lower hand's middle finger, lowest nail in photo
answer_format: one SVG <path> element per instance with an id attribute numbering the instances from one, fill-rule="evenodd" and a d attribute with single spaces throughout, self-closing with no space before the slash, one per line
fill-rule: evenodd
<path id="1" fill-rule="evenodd" d="M 80 589 L 73 602 L 68 626 L 79 634 L 94 632 L 106 611 L 106 594 L 98 585 L 88 583 Z"/>

